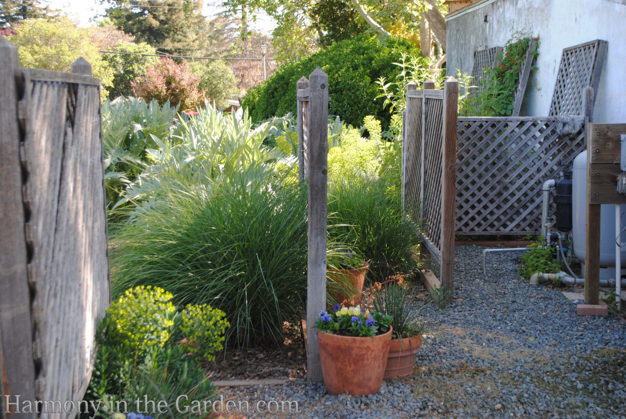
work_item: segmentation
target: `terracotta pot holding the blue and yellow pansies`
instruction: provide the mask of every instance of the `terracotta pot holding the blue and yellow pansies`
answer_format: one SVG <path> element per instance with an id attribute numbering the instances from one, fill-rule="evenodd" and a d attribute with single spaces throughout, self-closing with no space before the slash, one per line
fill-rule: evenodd
<path id="1" fill-rule="evenodd" d="M 356 338 L 317 331 L 324 383 L 331 394 L 346 391 L 366 396 L 381 388 L 391 329 L 374 338 Z"/>

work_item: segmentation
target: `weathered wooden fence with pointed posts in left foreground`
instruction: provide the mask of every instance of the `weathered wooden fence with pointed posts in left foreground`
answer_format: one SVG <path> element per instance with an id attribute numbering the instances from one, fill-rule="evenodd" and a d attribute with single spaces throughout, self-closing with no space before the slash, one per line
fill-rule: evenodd
<path id="1" fill-rule="evenodd" d="M 0 36 L 3 401 L 62 407 L 24 418 L 76 416 L 110 300 L 100 81 L 82 58 L 72 71 L 20 67 Z"/>

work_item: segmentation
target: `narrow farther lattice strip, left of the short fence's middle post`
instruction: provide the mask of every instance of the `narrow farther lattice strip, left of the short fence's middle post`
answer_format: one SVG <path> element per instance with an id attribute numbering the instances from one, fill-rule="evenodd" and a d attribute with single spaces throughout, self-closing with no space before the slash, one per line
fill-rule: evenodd
<path id="1" fill-rule="evenodd" d="M 419 220 L 419 198 L 422 184 L 422 102 L 423 98 L 407 98 L 409 101 L 405 130 L 406 167 L 404 190 L 406 210 L 414 220 Z"/>

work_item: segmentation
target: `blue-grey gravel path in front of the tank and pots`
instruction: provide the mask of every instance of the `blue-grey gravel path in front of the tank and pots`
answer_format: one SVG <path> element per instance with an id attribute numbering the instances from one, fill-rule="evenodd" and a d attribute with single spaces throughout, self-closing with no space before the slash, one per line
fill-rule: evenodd
<path id="1" fill-rule="evenodd" d="M 456 248 L 454 303 L 429 308 L 413 375 L 371 396 L 333 396 L 323 384 L 221 388 L 236 401 L 295 400 L 302 418 L 626 418 L 626 323 L 580 317 L 562 292 L 530 286 L 520 254 Z M 276 405 L 273 405 L 276 406 Z"/>

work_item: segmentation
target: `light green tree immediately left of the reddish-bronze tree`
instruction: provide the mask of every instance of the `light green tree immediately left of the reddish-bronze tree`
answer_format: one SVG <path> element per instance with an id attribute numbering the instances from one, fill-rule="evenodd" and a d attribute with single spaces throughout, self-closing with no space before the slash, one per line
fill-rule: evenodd
<path id="1" fill-rule="evenodd" d="M 119 42 L 113 46 L 113 50 L 128 54 L 104 54 L 103 56 L 113 69 L 113 86 L 109 91 L 109 97 L 130 96 L 133 94 L 130 82 L 138 76 L 145 75 L 146 68 L 155 65 L 158 59 L 140 54 L 156 54 L 156 51 L 146 43 L 129 42 Z"/>

